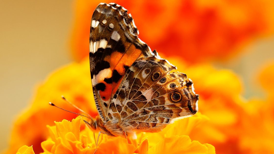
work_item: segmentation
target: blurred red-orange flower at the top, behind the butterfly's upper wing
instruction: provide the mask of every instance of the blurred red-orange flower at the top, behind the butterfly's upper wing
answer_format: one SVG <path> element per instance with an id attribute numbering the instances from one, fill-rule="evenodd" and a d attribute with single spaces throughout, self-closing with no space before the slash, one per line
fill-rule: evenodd
<path id="1" fill-rule="evenodd" d="M 76 60 L 89 52 L 90 19 L 101 1 L 76 1 L 72 53 Z M 112 1 L 105 1 L 106 3 Z M 140 38 L 160 55 L 187 62 L 227 59 L 254 38 L 273 33 L 273 1 L 125 1 Z M 255 18 L 256 17 L 256 18 Z"/>

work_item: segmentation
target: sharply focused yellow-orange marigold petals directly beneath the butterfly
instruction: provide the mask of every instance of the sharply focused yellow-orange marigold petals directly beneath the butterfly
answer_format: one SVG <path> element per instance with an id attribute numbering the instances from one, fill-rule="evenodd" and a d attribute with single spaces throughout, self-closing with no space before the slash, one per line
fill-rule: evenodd
<path id="1" fill-rule="evenodd" d="M 201 115 L 196 115 L 200 117 Z M 201 116 L 198 119 L 203 119 Z M 197 118 L 192 119 L 197 121 Z M 184 121 L 184 120 L 181 120 Z M 199 120 L 198 120 L 199 121 Z M 63 120 L 55 122 L 56 126 L 47 126 L 50 138 L 41 143 L 45 154 L 49 153 L 93 153 L 96 149 L 92 130 L 86 128 L 80 132 L 81 117 L 73 119 L 72 122 Z M 173 125 L 173 124 L 171 124 Z M 171 127 L 172 128 L 172 127 Z M 185 129 L 181 126 L 181 129 Z M 189 128 L 186 128 L 189 129 Z M 172 132 L 169 128 L 166 132 Z M 138 139 L 131 139 L 133 144 L 128 144 L 122 137 L 111 137 L 102 134 L 99 139 L 98 153 L 215 153 L 215 148 L 210 144 L 201 144 L 191 141 L 189 136 L 174 135 L 170 133 L 165 137 L 160 133 L 138 134 Z M 153 134 L 153 137 L 152 137 Z M 142 137 L 141 137 L 142 136 Z"/>

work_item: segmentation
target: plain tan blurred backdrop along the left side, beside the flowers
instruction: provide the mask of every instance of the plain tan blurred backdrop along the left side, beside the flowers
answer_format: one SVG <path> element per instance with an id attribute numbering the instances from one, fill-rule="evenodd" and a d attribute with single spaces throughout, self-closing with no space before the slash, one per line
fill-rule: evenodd
<path id="1" fill-rule="evenodd" d="M 69 39 L 73 1 L 0 1 L 0 149 L 12 123 L 32 99 L 39 82 L 73 60 Z"/>

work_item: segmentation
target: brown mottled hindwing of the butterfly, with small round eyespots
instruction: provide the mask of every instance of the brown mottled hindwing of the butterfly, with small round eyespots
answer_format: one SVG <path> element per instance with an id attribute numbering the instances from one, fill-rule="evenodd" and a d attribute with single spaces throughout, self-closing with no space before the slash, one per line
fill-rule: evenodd
<path id="1" fill-rule="evenodd" d="M 176 67 L 156 55 L 135 61 L 115 93 L 108 117 L 119 126 L 155 132 L 198 111 L 192 81 L 183 73 L 170 73 Z"/>

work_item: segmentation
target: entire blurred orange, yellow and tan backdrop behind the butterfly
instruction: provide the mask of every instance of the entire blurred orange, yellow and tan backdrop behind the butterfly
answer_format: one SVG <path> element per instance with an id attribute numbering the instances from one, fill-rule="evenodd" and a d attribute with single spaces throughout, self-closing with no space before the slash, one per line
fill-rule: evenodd
<path id="1" fill-rule="evenodd" d="M 86 56 L 100 2 L 1 2 L 0 149 L 42 152 L 52 135 L 46 125 L 77 117 L 47 104 L 77 112 L 61 95 L 96 116 Z M 273 1 L 104 2 L 128 9 L 139 38 L 186 73 L 200 95 L 199 115 L 160 136 L 188 135 L 216 153 L 274 153 Z"/>

